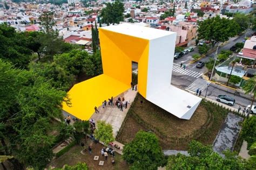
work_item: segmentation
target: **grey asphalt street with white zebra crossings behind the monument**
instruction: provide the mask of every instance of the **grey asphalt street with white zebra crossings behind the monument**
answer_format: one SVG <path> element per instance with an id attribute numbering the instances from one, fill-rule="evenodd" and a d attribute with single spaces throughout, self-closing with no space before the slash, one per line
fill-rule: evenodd
<path id="1" fill-rule="evenodd" d="M 247 36 L 251 35 L 253 31 L 248 31 Z M 242 34 L 239 37 L 230 38 L 228 42 L 224 46 L 220 46 L 218 53 L 221 50 L 229 50 L 235 43 L 242 42 L 245 34 Z M 192 55 L 198 53 L 198 47 L 194 48 L 193 52 L 187 53 L 183 57 L 178 60 L 174 60 L 173 69 L 172 69 L 172 81 L 171 84 L 180 89 L 184 89 L 189 91 L 190 93 L 196 94 L 196 90 L 199 88 L 202 90 L 201 96 L 205 96 L 207 86 L 207 95 L 206 97 L 211 98 L 212 100 L 216 100 L 218 95 L 228 95 L 235 99 L 234 108 L 247 107 L 247 105 L 251 104 L 252 97 L 250 95 L 245 95 L 242 93 L 238 93 L 236 90 L 231 88 L 223 87 L 218 84 L 212 84 L 206 80 L 204 80 L 201 76 L 207 73 L 207 68 L 204 66 L 203 68 L 197 68 L 197 62 L 190 63 L 192 61 Z M 211 54 L 205 56 L 205 58 L 200 61 L 207 62 L 210 58 L 213 58 L 215 51 Z M 181 68 L 180 63 L 185 63 L 186 68 Z M 138 73 L 138 64 L 132 63 L 133 73 Z M 255 105 L 255 104 L 254 104 Z"/>

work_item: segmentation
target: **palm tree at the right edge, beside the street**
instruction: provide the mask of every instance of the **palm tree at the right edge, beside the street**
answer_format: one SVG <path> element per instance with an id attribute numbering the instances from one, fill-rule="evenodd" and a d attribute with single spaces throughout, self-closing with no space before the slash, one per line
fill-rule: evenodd
<path id="1" fill-rule="evenodd" d="M 251 101 L 251 107 L 250 111 L 252 110 L 252 105 L 255 100 L 255 95 L 256 95 L 256 76 L 253 76 L 249 80 L 246 81 L 245 85 L 242 87 L 243 90 L 245 90 L 245 94 L 252 94 L 252 101 Z M 249 114 L 247 115 L 249 116 Z"/>

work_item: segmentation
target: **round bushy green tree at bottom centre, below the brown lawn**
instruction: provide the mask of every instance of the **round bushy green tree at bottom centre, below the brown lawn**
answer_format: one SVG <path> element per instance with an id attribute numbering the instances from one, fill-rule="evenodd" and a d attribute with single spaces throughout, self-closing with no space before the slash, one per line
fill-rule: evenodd
<path id="1" fill-rule="evenodd" d="M 157 169 L 161 166 L 164 155 L 155 134 L 139 131 L 124 146 L 123 159 L 132 164 L 131 169 Z"/>

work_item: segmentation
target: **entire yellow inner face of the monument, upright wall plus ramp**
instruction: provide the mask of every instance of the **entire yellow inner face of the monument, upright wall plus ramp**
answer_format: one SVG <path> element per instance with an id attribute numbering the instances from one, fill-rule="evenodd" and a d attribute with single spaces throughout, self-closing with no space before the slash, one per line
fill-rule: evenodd
<path id="1" fill-rule="evenodd" d="M 138 91 L 146 98 L 149 40 L 99 29 L 102 75 L 76 84 L 68 95 L 72 103 L 63 110 L 82 120 L 89 120 L 94 108 L 104 100 L 130 88 L 132 61 L 138 62 Z"/>

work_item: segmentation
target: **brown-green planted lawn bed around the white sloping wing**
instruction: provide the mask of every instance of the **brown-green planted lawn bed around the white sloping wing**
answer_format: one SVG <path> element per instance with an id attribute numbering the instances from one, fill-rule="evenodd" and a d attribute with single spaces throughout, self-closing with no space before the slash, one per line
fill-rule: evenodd
<path id="1" fill-rule="evenodd" d="M 190 120 L 179 119 L 138 94 L 116 140 L 129 143 L 142 129 L 155 133 L 164 150 L 187 150 L 192 139 L 212 144 L 227 113 L 218 105 L 202 101 Z"/>

